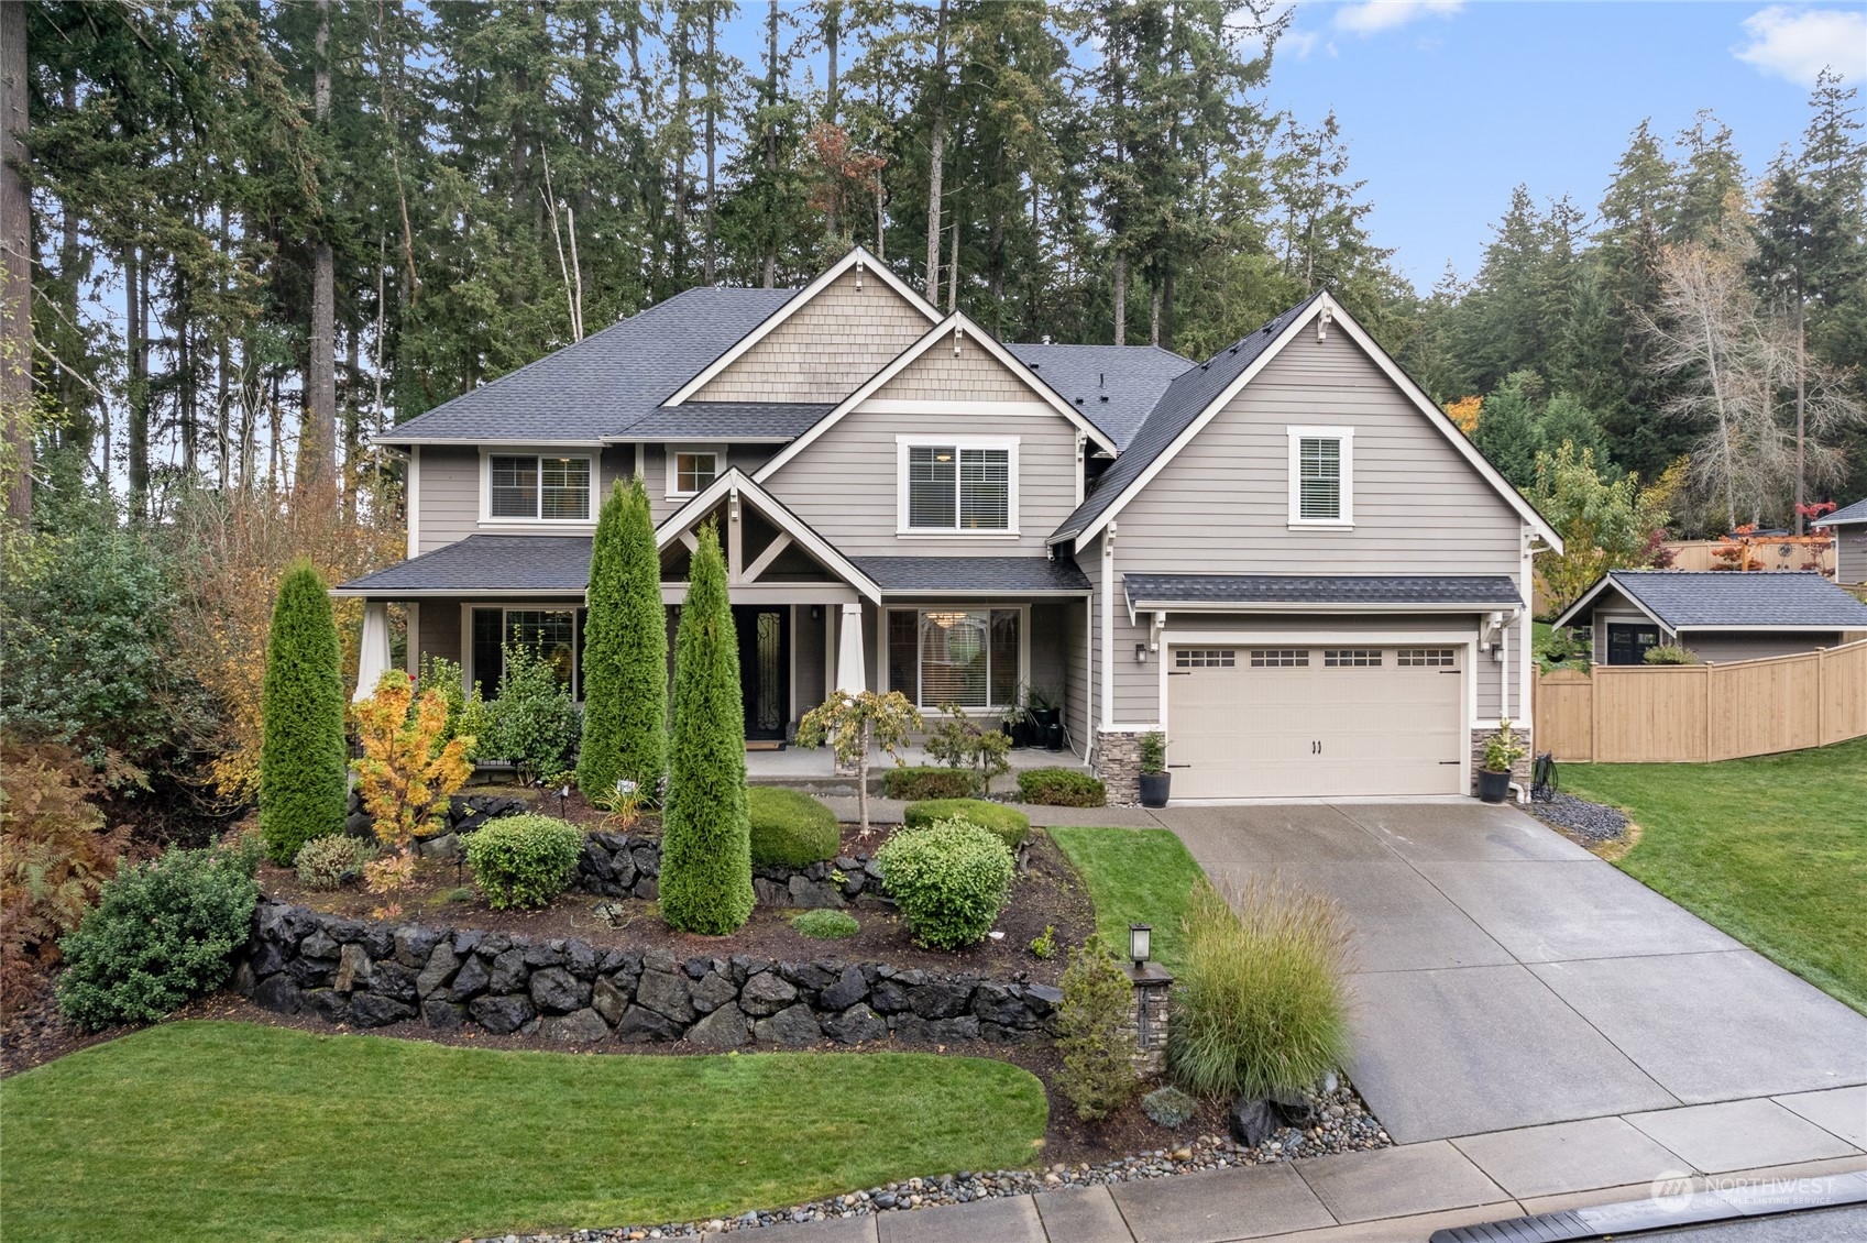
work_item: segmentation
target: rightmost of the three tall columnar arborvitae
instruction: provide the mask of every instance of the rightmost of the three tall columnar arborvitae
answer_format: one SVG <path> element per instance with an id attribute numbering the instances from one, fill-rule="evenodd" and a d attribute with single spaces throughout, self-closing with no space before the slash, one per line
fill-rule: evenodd
<path id="1" fill-rule="evenodd" d="M 752 913 L 752 831 L 745 812 L 745 700 L 726 558 L 700 530 L 674 638 L 674 732 L 661 817 L 661 918 L 721 937 Z"/>

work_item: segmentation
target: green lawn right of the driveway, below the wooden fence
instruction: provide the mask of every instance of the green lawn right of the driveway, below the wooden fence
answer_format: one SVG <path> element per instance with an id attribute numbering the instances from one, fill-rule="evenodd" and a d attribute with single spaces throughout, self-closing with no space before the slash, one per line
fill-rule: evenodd
<path id="1" fill-rule="evenodd" d="M 1867 739 L 1561 780 L 1639 825 L 1622 870 L 1867 1013 Z"/>

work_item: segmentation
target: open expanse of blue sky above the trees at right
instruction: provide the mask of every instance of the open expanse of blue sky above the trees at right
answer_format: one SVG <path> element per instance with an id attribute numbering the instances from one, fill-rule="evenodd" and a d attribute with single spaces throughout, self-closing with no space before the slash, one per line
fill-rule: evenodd
<path id="1" fill-rule="evenodd" d="M 1425 291 L 1447 261 L 1471 276 L 1518 183 L 1593 213 L 1643 118 L 1671 136 L 1710 108 L 1761 174 L 1824 60 L 1867 77 L 1867 7 L 1299 4 L 1266 103 L 1335 108 L 1369 228 Z"/>

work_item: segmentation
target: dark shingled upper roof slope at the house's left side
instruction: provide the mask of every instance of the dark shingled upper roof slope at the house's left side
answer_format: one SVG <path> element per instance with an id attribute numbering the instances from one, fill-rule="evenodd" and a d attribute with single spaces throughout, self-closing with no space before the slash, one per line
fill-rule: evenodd
<path id="1" fill-rule="evenodd" d="M 549 353 L 383 433 L 416 440 L 599 440 L 661 411 L 676 388 L 762 325 L 795 289 L 702 286 Z M 670 435 L 689 433 L 685 429 Z"/>

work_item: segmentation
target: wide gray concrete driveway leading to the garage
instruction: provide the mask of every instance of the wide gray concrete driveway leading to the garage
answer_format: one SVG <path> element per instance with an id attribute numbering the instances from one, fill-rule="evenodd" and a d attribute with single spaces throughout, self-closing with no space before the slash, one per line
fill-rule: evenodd
<path id="1" fill-rule="evenodd" d="M 1867 1082 L 1867 1017 L 1512 808 L 1156 816 L 1214 881 L 1275 873 L 1342 905 L 1348 1069 L 1400 1142 L 1613 1114 L 1639 1127 L 1650 1110 Z M 1794 1103 L 1764 1105 L 1802 1124 Z"/>

